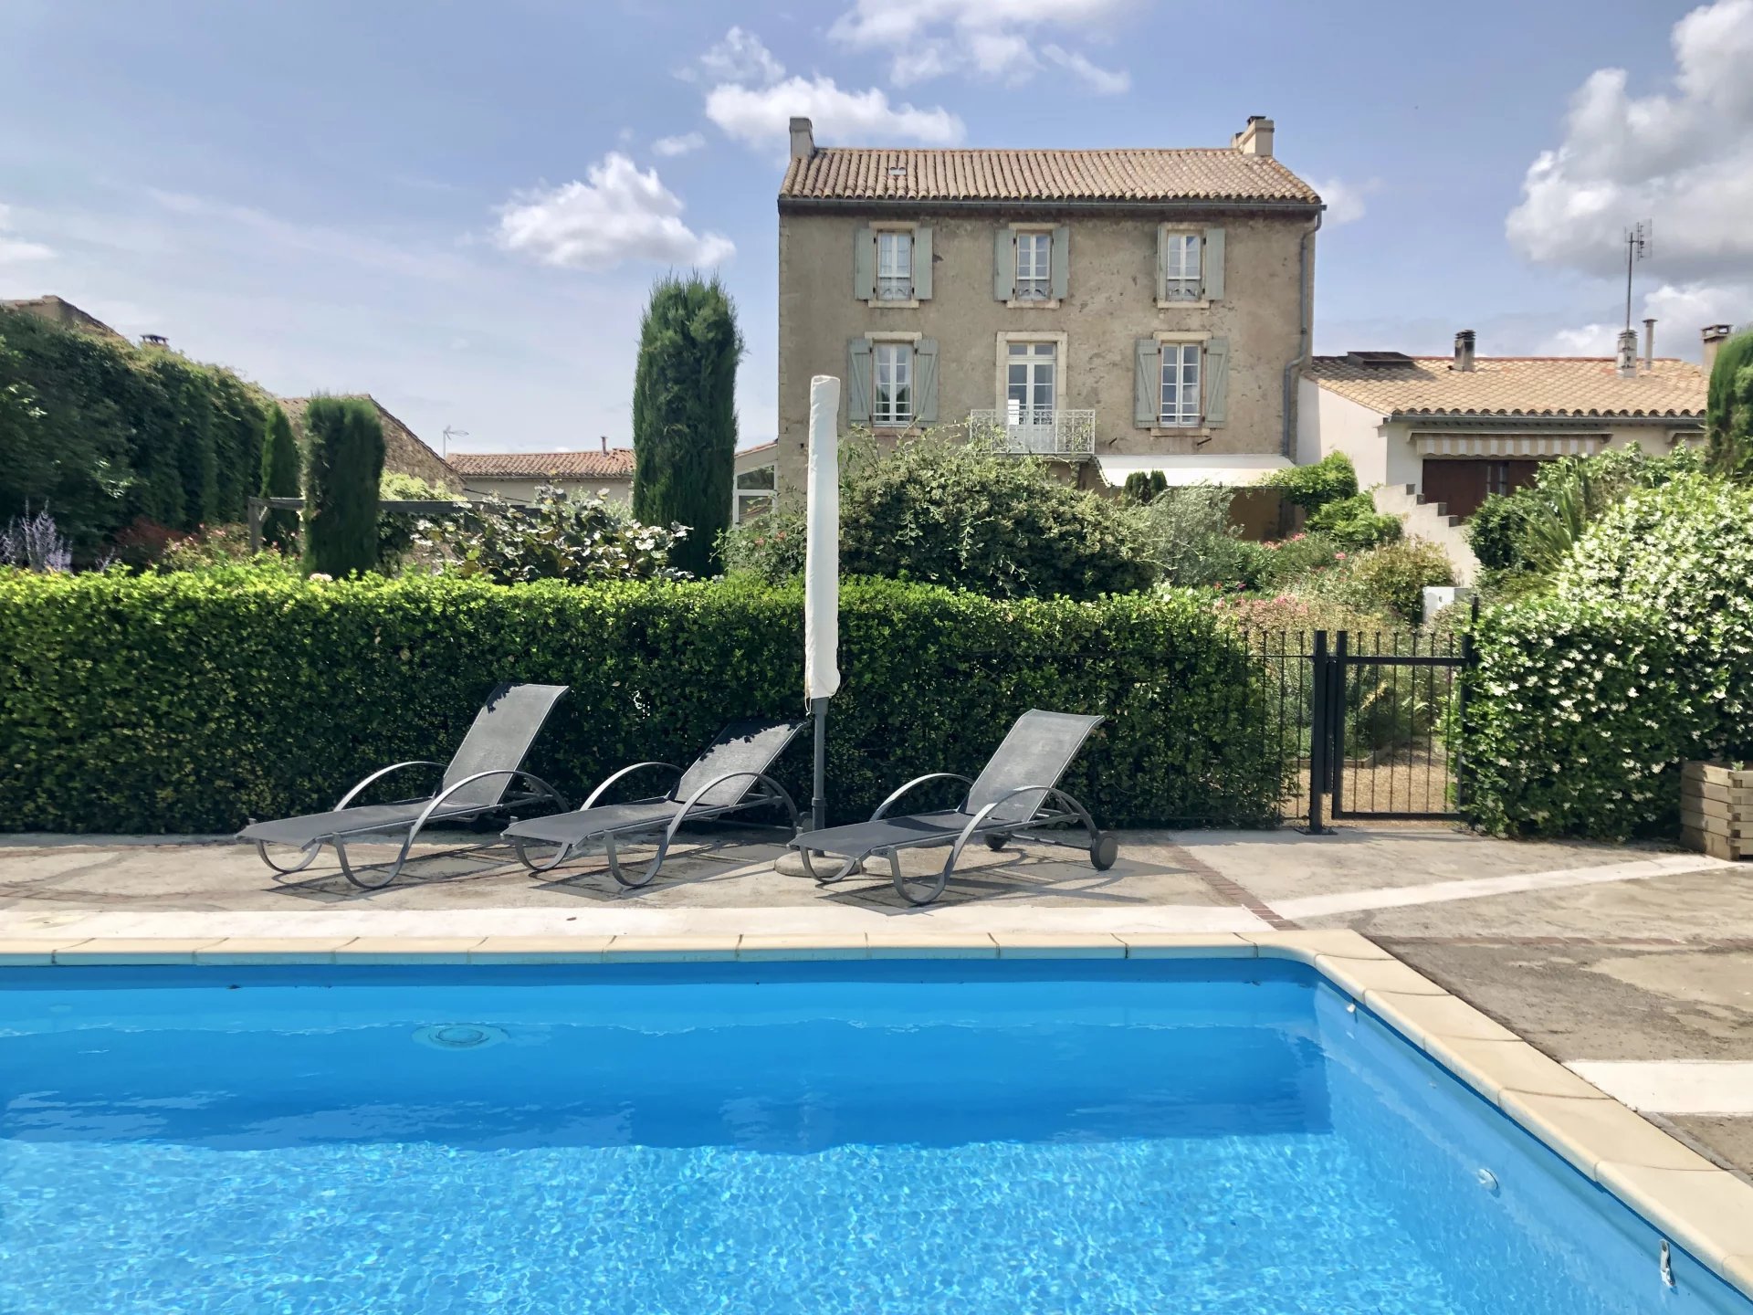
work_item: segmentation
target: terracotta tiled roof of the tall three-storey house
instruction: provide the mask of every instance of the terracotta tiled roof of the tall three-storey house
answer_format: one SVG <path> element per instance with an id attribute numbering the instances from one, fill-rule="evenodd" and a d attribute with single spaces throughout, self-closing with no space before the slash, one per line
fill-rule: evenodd
<path id="1" fill-rule="evenodd" d="M 1315 189 L 1269 156 L 1185 151 L 820 149 L 792 160 L 780 200 L 1280 202 Z"/>

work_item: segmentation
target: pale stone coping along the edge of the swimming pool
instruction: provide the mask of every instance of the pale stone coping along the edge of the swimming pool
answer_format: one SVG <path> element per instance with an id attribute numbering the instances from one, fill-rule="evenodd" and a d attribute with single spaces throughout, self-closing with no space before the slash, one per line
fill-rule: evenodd
<path id="1" fill-rule="evenodd" d="M 1753 1184 L 1681 1145 L 1508 1027 L 1348 929 L 698 936 L 0 938 L 0 966 L 542 964 L 785 959 L 1290 959 L 1753 1299 Z"/>

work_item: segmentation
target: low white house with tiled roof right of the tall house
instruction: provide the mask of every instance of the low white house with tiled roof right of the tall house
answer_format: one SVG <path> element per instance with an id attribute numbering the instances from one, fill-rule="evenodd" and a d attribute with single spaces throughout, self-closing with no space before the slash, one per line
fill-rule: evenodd
<path id="1" fill-rule="evenodd" d="M 1704 331 L 1706 358 L 1727 337 Z M 1453 356 L 1371 351 L 1317 356 L 1297 407 L 1297 461 L 1345 452 L 1376 505 L 1441 542 L 1471 577 L 1460 521 L 1492 493 L 1529 484 L 1541 461 L 1639 445 L 1667 452 L 1704 437 L 1707 366 L 1597 356 Z"/>

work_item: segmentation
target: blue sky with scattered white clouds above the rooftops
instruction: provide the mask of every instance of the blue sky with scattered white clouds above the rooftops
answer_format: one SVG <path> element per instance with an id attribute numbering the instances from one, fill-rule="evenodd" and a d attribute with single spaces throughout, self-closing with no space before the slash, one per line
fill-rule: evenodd
<path id="1" fill-rule="evenodd" d="M 0 296 L 60 293 L 435 445 L 629 440 L 650 279 L 715 265 L 773 433 L 775 191 L 834 144 L 1222 146 L 1332 205 L 1317 349 L 1662 354 L 1753 317 L 1753 0 L 0 0 Z"/>

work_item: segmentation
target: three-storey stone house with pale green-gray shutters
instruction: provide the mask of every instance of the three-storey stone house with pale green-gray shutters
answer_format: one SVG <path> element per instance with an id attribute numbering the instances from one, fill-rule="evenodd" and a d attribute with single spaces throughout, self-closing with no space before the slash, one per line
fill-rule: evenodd
<path id="1" fill-rule="evenodd" d="M 1322 202 L 1253 117 L 1229 147 L 817 149 L 778 193 L 780 489 L 810 377 L 841 426 L 969 424 L 1085 487 L 1139 458 L 1288 465 Z M 1118 475 L 1118 479 L 1115 477 Z"/>

